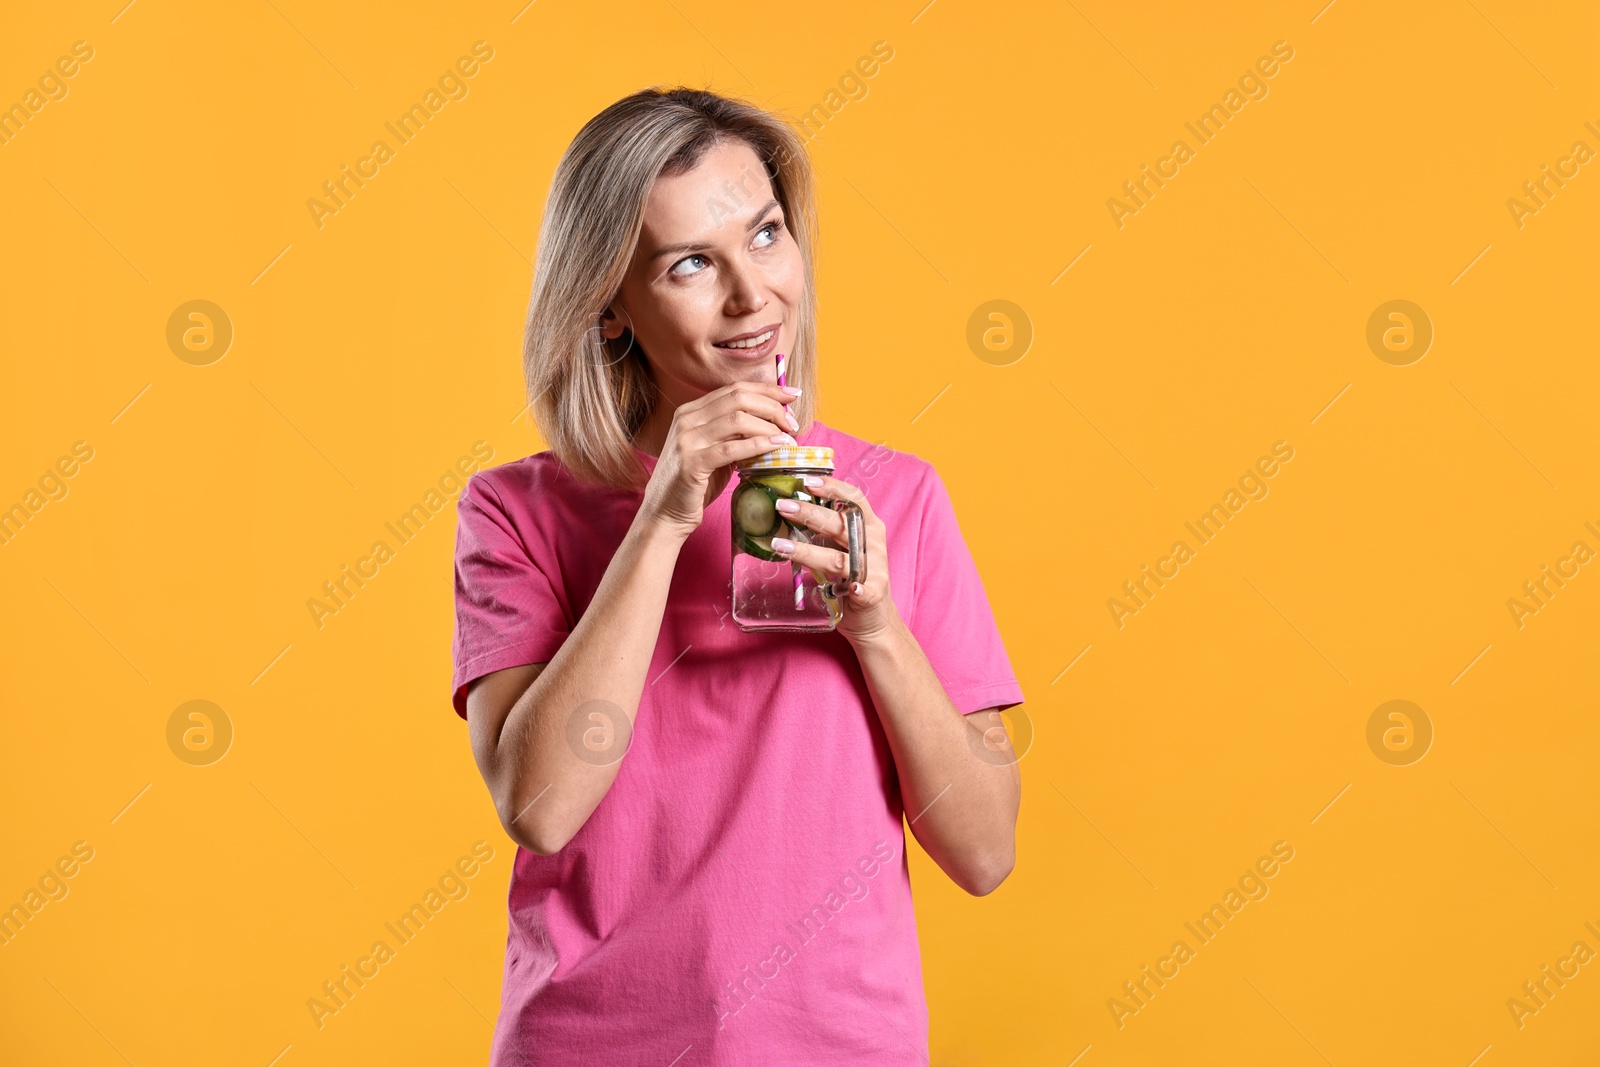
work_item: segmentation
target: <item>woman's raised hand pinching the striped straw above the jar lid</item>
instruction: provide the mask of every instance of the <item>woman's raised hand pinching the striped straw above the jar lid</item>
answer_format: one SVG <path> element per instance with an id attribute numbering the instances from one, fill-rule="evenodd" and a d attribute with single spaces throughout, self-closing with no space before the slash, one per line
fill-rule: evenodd
<path id="1" fill-rule="evenodd" d="M 733 382 L 680 405 L 645 485 L 642 517 L 680 537 L 694 533 L 733 477 L 730 464 L 795 443 L 789 432 L 798 427 L 784 411 L 794 398 L 768 382 Z"/>

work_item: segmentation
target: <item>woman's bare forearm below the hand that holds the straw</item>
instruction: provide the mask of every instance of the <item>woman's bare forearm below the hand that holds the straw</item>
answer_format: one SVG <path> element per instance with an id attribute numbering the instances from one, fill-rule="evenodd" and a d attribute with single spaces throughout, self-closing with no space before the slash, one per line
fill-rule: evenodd
<path id="1" fill-rule="evenodd" d="M 680 534 L 637 518 L 550 662 L 506 672 L 522 693 L 494 747 L 493 792 L 501 822 L 523 848 L 560 849 L 611 789 L 682 545 Z"/>

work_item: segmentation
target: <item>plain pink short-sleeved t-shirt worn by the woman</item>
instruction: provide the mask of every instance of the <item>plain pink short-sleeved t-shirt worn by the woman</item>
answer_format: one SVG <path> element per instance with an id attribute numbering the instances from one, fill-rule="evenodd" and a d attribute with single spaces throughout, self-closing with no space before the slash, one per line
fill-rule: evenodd
<path id="1" fill-rule="evenodd" d="M 1022 701 L 938 472 L 813 422 L 888 530 L 894 603 L 950 701 Z M 640 451 L 646 469 L 654 458 Z M 894 761 L 837 632 L 733 624 L 730 498 L 685 541 L 634 737 L 554 856 L 517 849 L 491 1064 L 925 1065 L 928 1008 Z M 549 451 L 472 477 L 454 705 L 547 662 L 642 501 Z"/>

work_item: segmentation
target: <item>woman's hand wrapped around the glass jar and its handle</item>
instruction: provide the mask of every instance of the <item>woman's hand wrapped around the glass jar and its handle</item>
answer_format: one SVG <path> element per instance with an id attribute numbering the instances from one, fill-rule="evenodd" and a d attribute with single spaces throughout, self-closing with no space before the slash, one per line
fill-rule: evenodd
<path id="1" fill-rule="evenodd" d="M 861 517 L 866 520 L 867 577 L 840 595 L 838 603 L 843 614 L 838 621 L 838 632 L 853 645 L 888 633 L 899 622 L 899 611 L 890 597 L 888 537 L 885 536 L 883 520 L 872 510 L 866 493 L 840 478 L 824 477 L 818 486 L 806 485 L 806 493 L 824 501 L 854 501 L 861 506 Z M 814 566 L 829 581 L 843 582 L 850 573 L 850 542 L 845 536 L 845 517 L 824 504 L 806 504 L 803 501 L 779 501 L 778 510 L 786 522 L 805 526 L 819 534 L 821 541 L 838 547 L 829 547 L 829 544 L 798 544 L 787 537 L 773 537 L 773 553 L 794 560 L 802 566 Z"/>

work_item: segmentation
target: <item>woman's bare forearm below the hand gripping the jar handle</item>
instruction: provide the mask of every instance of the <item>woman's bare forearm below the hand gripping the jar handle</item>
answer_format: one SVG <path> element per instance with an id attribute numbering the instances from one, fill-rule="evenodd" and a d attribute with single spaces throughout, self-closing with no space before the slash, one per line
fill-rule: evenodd
<path id="1" fill-rule="evenodd" d="M 986 750 L 984 733 L 998 723 L 984 712 L 962 715 L 902 621 L 858 641 L 856 657 L 894 757 L 912 833 L 958 886 L 978 896 L 994 891 L 1016 862 L 1022 792 L 1014 760 L 978 755 Z"/>

